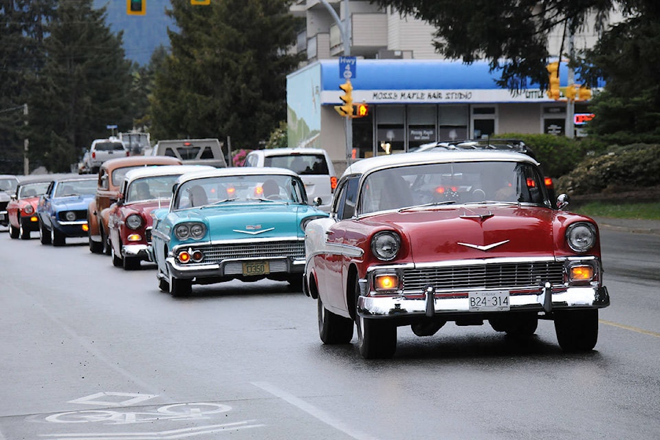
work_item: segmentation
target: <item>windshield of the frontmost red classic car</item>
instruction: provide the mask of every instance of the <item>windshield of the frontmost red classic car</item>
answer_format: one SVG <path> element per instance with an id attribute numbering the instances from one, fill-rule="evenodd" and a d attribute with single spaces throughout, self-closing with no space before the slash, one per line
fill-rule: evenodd
<path id="1" fill-rule="evenodd" d="M 455 203 L 550 206 L 537 168 L 523 162 L 448 162 L 399 166 L 364 179 L 359 214 Z"/>

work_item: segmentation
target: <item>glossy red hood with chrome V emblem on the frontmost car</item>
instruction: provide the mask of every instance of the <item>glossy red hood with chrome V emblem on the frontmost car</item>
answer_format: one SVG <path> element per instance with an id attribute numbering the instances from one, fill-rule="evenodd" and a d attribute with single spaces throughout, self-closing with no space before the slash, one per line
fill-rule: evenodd
<path id="1" fill-rule="evenodd" d="M 381 214 L 410 243 L 415 263 L 553 256 L 555 211 L 530 206 L 457 206 Z"/>

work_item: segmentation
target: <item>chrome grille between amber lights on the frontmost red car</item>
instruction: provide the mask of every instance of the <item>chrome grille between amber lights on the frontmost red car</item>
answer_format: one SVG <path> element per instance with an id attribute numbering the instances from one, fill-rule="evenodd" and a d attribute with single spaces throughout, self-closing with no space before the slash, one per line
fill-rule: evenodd
<path id="1" fill-rule="evenodd" d="M 496 263 L 404 270 L 404 292 L 422 292 L 432 285 L 436 292 L 465 292 L 472 289 L 515 289 L 553 285 L 564 281 L 564 265 L 555 261 Z"/>

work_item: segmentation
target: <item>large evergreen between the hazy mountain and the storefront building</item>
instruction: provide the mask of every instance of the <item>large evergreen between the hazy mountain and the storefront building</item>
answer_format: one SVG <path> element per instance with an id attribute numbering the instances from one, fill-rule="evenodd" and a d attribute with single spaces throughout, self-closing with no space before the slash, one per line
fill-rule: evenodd
<path id="1" fill-rule="evenodd" d="M 296 19 L 289 0 L 173 0 L 179 32 L 151 97 L 156 138 L 227 137 L 236 148 L 267 140 L 286 117 L 287 54 Z"/>

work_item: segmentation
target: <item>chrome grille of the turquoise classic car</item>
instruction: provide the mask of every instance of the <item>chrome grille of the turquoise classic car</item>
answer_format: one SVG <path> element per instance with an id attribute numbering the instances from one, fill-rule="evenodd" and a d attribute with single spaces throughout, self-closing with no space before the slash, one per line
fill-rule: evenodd
<path id="1" fill-rule="evenodd" d="M 304 241 L 265 241 L 262 243 L 223 243 L 200 246 L 195 249 L 204 253 L 203 263 L 220 263 L 225 259 L 254 258 L 305 258 Z"/>

